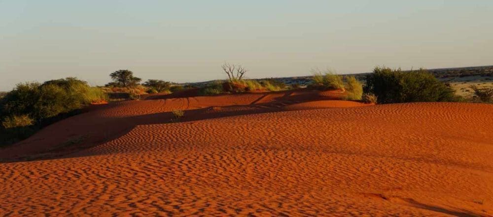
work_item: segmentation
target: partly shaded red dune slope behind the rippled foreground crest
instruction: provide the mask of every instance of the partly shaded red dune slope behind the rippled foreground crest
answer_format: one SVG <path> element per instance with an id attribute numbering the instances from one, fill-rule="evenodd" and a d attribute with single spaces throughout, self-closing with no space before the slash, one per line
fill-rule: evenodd
<path id="1" fill-rule="evenodd" d="M 150 95 L 148 100 L 94 106 L 89 112 L 52 124 L 27 140 L 0 149 L 0 162 L 49 159 L 101 145 L 138 125 L 176 122 L 172 120 L 173 110 L 186 110 L 185 117 L 179 121 L 191 121 L 287 109 L 367 106 L 357 102 L 335 101 L 343 97 L 338 91 L 296 90 L 219 96 L 191 94 L 185 91 Z M 337 103 L 324 105 L 325 101 Z"/>

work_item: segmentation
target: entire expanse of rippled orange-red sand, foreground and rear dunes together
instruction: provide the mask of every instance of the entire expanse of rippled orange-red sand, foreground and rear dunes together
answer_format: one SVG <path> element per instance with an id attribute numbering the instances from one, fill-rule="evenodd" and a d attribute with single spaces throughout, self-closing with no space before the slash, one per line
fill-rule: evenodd
<path id="1" fill-rule="evenodd" d="M 492 105 L 346 108 L 363 104 L 337 97 L 98 106 L 1 150 L 7 160 L 63 156 L 1 163 L 0 215 L 493 214 Z M 187 109 L 180 122 L 170 123 L 173 109 Z M 83 142 L 58 145 L 74 137 Z"/>

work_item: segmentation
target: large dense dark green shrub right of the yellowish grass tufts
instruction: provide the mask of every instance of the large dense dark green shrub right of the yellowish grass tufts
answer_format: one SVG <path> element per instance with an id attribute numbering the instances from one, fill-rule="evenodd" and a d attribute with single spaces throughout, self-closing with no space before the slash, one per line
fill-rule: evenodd
<path id="1" fill-rule="evenodd" d="M 366 76 L 364 92 L 375 94 L 380 104 L 458 101 L 451 87 L 423 69 L 402 72 L 376 67 Z"/>

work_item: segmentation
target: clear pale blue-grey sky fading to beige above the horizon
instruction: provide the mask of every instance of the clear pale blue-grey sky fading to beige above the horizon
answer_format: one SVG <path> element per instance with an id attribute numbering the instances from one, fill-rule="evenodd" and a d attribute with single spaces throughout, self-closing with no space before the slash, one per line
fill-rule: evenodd
<path id="1" fill-rule="evenodd" d="M 493 65 L 493 0 L 0 0 L 0 90 Z"/>

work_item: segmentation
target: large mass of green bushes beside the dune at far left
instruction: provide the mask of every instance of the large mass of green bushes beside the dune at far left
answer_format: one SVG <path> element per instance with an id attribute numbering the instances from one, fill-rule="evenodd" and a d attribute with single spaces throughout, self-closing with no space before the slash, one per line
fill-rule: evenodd
<path id="1" fill-rule="evenodd" d="M 101 89 L 74 77 L 43 84 L 17 84 L 0 100 L 0 145 L 25 139 L 39 125 L 47 125 L 58 120 L 60 115 L 67 116 L 91 103 L 106 100 Z"/>

